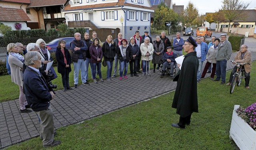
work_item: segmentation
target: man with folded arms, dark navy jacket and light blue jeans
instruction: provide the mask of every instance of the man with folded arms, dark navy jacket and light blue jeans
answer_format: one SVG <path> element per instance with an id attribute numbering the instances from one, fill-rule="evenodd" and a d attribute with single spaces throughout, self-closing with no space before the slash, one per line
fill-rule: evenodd
<path id="1" fill-rule="evenodd" d="M 74 64 L 74 84 L 77 88 L 79 70 L 81 69 L 82 84 L 86 85 L 85 77 L 85 60 L 87 46 L 83 40 L 81 40 L 81 34 L 76 32 L 74 34 L 74 40 L 70 43 L 72 52 L 72 61 Z"/>

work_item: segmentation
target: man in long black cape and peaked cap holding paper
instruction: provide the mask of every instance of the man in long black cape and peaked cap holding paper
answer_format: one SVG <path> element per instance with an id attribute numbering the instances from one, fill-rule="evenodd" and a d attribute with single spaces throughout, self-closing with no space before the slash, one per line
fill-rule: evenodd
<path id="1" fill-rule="evenodd" d="M 176 108 L 176 113 L 180 115 L 179 122 L 172 124 L 176 128 L 185 128 L 186 125 L 190 125 L 191 114 L 198 112 L 197 70 L 199 61 L 194 51 L 196 46 L 196 41 L 191 36 L 185 40 L 183 48 L 188 54 L 184 56 L 181 70 L 173 80 L 178 81 L 172 102 L 172 108 Z"/>

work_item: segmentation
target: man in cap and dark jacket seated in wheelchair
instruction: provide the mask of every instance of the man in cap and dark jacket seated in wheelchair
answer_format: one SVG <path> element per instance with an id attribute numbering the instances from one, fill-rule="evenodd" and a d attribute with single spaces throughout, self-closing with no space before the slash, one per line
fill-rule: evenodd
<path id="1" fill-rule="evenodd" d="M 164 53 L 163 59 L 164 59 L 164 63 L 163 63 L 163 67 L 162 67 L 162 73 L 161 73 L 161 78 L 164 77 L 164 73 L 165 73 L 165 69 L 166 68 L 170 68 L 170 76 L 173 76 L 173 69 L 174 69 L 174 65 L 175 65 L 175 58 L 177 58 L 177 55 L 172 52 L 172 48 L 170 46 L 168 46 L 166 48 L 167 52 Z"/>

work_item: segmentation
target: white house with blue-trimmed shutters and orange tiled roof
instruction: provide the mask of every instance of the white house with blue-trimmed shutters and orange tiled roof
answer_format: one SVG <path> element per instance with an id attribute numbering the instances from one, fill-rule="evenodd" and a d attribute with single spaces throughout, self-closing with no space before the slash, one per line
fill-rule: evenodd
<path id="1" fill-rule="evenodd" d="M 123 38 L 130 38 L 136 30 L 150 32 L 154 9 L 149 0 L 71 0 L 63 12 L 69 27 L 120 28 Z M 80 26 L 82 21 L 87 23 Z"/>

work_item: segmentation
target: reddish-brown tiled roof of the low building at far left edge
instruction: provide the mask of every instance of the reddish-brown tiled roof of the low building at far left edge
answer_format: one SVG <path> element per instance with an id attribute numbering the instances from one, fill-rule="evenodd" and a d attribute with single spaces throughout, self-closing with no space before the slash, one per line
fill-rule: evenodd
<path id="1" fill-rule="evenodd" d="M 0 21 L 31 21 L 23 9 L 0 7 Z"/>

